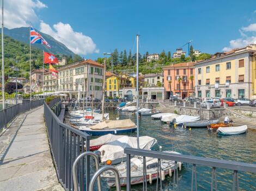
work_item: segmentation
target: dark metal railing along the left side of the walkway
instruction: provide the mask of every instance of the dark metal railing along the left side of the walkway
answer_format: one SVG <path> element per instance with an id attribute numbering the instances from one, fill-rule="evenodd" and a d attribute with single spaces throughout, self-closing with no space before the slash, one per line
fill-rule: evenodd
<path id="1" fill-rule="evenodd" d="M 0 131 L 7 126 L 17 115 L 32 110 L 44 103 L 44 99 L 28 101 L 22 104 L 10 106 L 0 111 Z"/>

